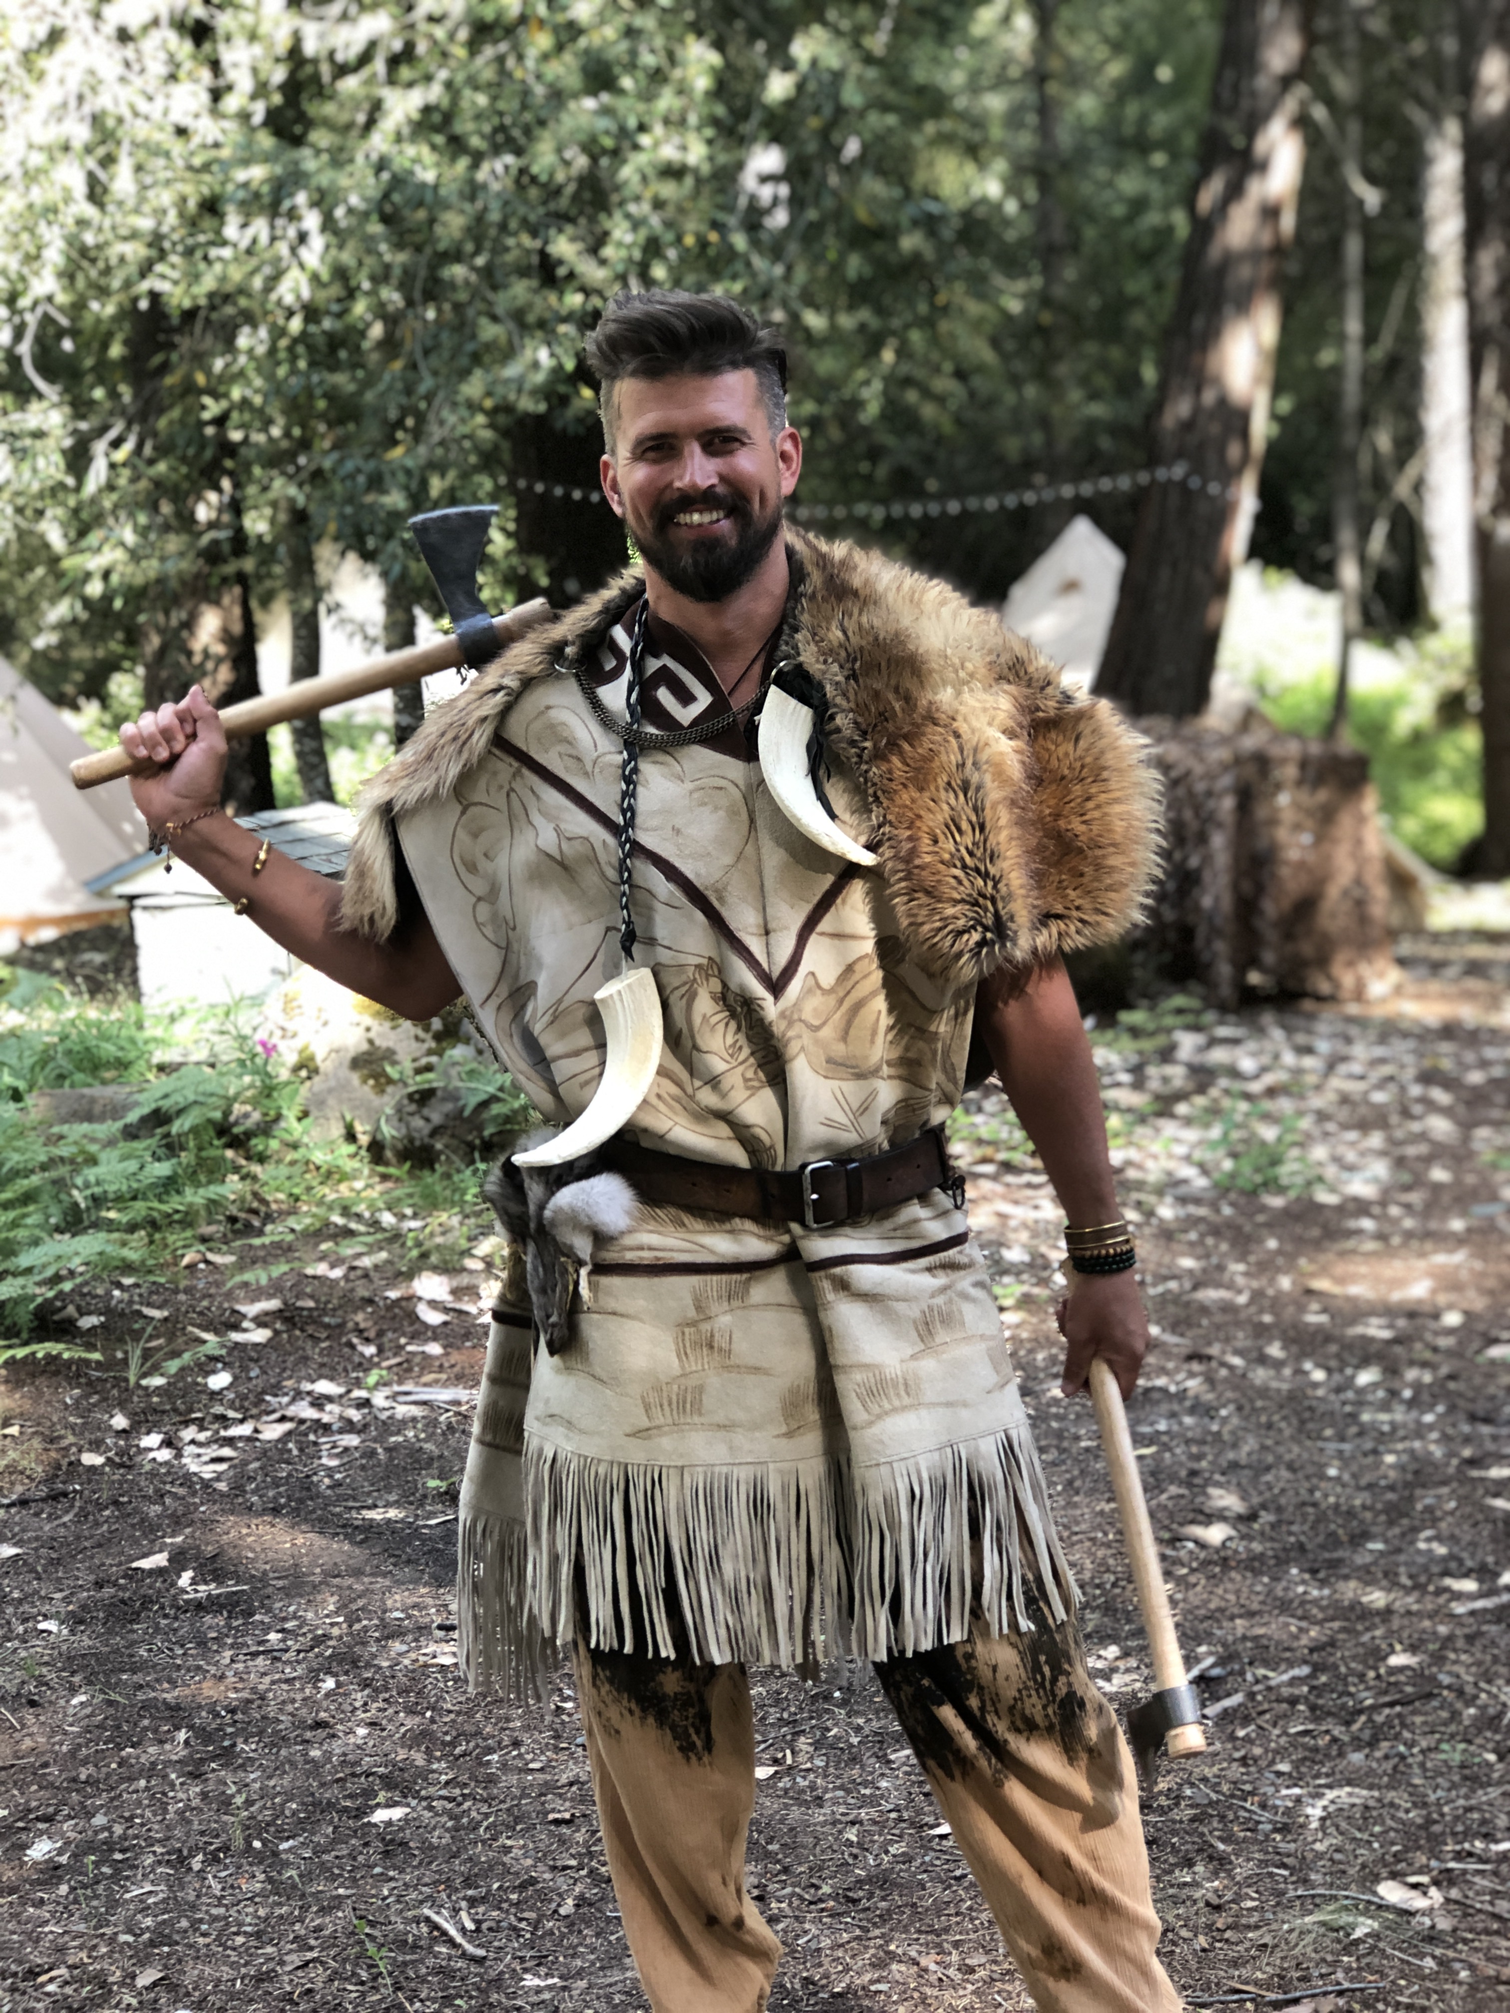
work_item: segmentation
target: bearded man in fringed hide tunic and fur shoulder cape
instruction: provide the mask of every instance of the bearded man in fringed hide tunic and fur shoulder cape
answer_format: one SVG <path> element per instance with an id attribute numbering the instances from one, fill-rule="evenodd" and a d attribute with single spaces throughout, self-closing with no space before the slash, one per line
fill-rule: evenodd
<path id="1" fill-rule="evenodd" d="M 519 1248 L 461 1633 L 473 1679 L 515 1683 L 572 1641 L 658 2013 L 765 2005 L 745 1663 L 846 1649 L 874 1659 L 1035 2003 L 1172 2009 L 1127 1749 L 936 1131 L 974 1035 L 1069 1218 L 1065 1391 L 1093 1355 L 1131 1391 L 1148 1329 L 1061 952 L 1142 898 L 1138 745 L 940 584 L 781 535 L 785 356 L 733 302 L 620 296 L 588 360 L 644 570 L 425 723 L 368 787 L 344 894 L 278 854 L 258 870 L 213 815 L 223 739 L 197 692 L 123 729 L 161 765 L 137 803 L 344 984 L 411 1017 L 465 990 L 554 1121 L 598 1109 L 616 1067 L 598 988 L 654 976 L 632 1121 L 493 1188 Z M 805 809 L 757 727 L 781 707 L 811 717 Z"/>

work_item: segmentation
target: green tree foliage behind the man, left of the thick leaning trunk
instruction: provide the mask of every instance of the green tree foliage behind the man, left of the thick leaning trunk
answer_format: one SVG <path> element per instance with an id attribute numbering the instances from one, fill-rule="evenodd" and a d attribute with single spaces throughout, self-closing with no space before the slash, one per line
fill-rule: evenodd
<path id="1" fill-rule="evenodd" d="M 0 646 L 54 696 L 187 674 L 195 610 L 284 586 L 290 511 L 413 582 L 407 515 L 497 491 L 489 594 L 548 548 L 602 572 L 608 513 L 517 479 L 592 485 L 580 344 L 624 282 L 785 322 L 817 503 L 1127 465 L 1214 26 L 1206 0 L 1083 0 L 1051 48 L 1019 0 L 219 0 L 129 28 L 14 0 Z M 1045 527 L 888 535 L 999 592 Z"/>

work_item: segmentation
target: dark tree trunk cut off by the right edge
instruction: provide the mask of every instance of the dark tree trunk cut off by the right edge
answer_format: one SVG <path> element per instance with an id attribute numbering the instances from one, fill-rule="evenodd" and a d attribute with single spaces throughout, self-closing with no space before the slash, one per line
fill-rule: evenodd
<path id="1" fill-rule="evenodd" d="M 1464 250 L 1474 399 L 1478 680 L 1484 841 L 1474 866 L 1510 874 L 1510 0 L 1466 0 Z"/>

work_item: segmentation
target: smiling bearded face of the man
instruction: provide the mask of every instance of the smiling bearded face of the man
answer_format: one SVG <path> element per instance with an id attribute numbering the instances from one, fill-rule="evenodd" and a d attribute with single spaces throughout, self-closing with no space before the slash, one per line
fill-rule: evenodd
<path id="1" fill-rule="evenodd" d="M 693 602 L 721 602 L 755 574 L 797 487 L 801 435 L 771 439 L 753 370 L 624 378 L 604 495 L 646 566 Z"/>

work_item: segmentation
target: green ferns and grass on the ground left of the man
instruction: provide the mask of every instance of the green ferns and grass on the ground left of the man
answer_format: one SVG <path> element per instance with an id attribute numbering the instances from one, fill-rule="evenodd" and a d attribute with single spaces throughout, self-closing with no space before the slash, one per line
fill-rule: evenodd
<path id="1" fill-rule="evenodd" d="M 83 1278 L 173 1274 L 195 1246 L 238 1246 L 236 1278 L 262 1282 L 322 1232 L 338 1232 L 322 1244 L 338 1256 L 447 1268 L 491 1230 L 481 1164 L 379 1168 L 354 1139 L 316 1139 L 304 1075 L 244 1011 L 165 1021 L 28 972 L 0 968 L 4 980 L 0 1359 L 74 1353 L 26 1343 L 52 1296 Z M 530 1107 L 507 1077 L 471 1055 L 455 1073 L 489 1127 L 517 1129 Z M 48 1125 L 30 1103 L 38 1089 L 95 1083 L 139 1087 L 121 1121 Z"/>

